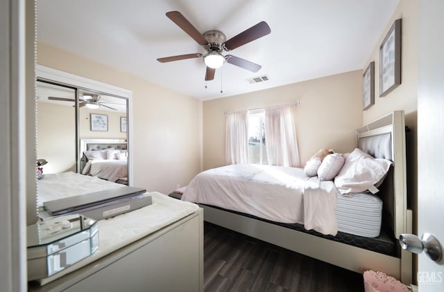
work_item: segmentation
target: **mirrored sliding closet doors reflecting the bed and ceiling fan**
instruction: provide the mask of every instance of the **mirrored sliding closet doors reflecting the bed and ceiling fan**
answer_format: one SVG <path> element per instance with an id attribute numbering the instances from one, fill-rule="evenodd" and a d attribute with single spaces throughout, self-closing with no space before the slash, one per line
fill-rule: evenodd
<path id="1" fill-rule="evenodd" d="M 71 84 L 64 73 L 57 72 L 54 79 L 47 77 L 48 69 L 40 68 L 42 73 L 37 70 L 36 82 L 37 158 L 48 163 L 42 167 L 38 182 L 38 201 L 46 197 L 45 187 L 40 185 L 59 174 L 94 176 L 130 185 L 128 98 L 116 95 L 111 87 L 108 90 L 101 86 L 101 90 L 108 91 L 102 92 L 73 85 L 76 78 Z M 96 127 L 94 118 L 104 118 L 105 123 Z M 92 191 L 92 186 L 84 190 Z"/>

